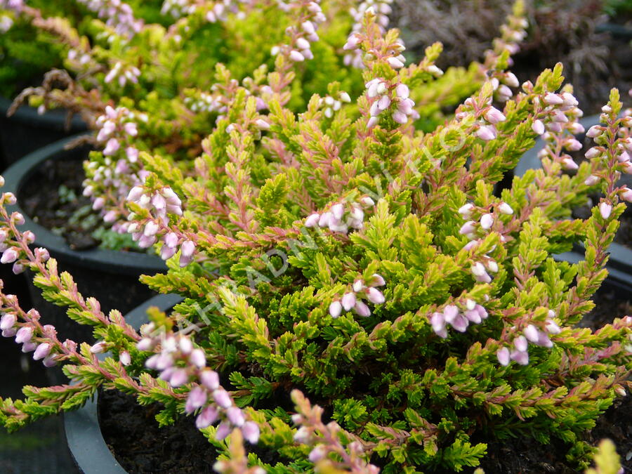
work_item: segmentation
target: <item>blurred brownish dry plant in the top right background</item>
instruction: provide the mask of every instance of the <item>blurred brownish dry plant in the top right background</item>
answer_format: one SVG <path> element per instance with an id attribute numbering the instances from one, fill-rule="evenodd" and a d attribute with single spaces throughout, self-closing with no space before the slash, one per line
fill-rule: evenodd
<path id="1" fill-rule="evenodd" d="M 520 81 L 562 62 L 567 81 L 588 114 L 598 113 L 610 88 L 632 86 L 628 40 L 610 34 L 607 22 L 632 18 L 630 0 L 527 1 L 528 36 L 512 70 Z M 439 67 L 467 65 L 480 58 L 498 31 L 511 2 L 501 0 L 395 0 L 392 25 L 402 29 L 409 53 L 441 41 Z"/>

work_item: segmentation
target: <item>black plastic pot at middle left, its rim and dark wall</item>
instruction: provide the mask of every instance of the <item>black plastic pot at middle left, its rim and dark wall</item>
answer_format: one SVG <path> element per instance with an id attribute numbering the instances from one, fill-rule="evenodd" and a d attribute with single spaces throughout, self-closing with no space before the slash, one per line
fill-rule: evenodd
<path id="1" fill-rule="evenodd" d="M 84 296 L 94 296 L 107 314 L 112 309 L 126 313 L 132 310 L 138 301 L 154 296 L 144 284 L 138 281 L 140 275 L 154 275 L 166 272 L 166 265 L 158 256 L 136 252 L 90 249 L 77 251 L 70 248 L 65 240 L 50 230 L 35 223 L 20 208 L 20 190 L 47 160 L 86 158 L 86 148 L 65 150 L 73 137 L 48 145 L 37 152 L 27 155 L 3 173 L 6 185 L 4 191 L 13 192 L 18 204 L 9 206 L 10 211 L 20 211 L 25 215 L 22 230 L 32 230 L 36 236 L 34 246 L 48 249 L 51 257 L 58 261 L 60 272 L 67 271 L 74 277 L 79 292 Z M 6 265 L 4 265 L 6 266 Z M 41 313 L 44 322 L 54 324 L 61 338 L 75 341 L 91 341 L 91 328 L 72 322 L 63 308 L 48 303 L 41 298 L 41 291 L 29 280 L 29 294 L 34 308 Z"/>

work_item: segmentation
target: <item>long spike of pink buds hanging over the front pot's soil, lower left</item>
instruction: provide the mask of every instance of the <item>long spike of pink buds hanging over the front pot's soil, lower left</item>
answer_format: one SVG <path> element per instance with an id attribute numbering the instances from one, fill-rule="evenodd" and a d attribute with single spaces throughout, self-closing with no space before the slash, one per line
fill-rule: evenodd
<path id="1" fill-rule="evenodd" d="M 204 350 L 194 348 L 187 336 L 164 337 L 159 332 L 158 336 L 152 337 L 154 332 L 159 331 L 154 331 L 153 323 L 141 328 L 144 337 L 138 342 L 139 350 L 154 350 L 160 345 L 160 352 L 147 359 L 145 366 L 159 371 L 159 378 L 173 388 L 199 381 L 192 385 L 185 405 L 188 414 L 198 412 L 195 420 L 197 428 L 204 429 L 220 420 L 216 431 L 217 440 L 223 440 L 233 428 L 239 428 L 246 440 L 256 443 L 259 439 L 259 427 L 254 421 L 246 420 L 242 409 L 235 405 L 230 394 L 220 386 L 217 372 L 206 367 Z"/>

